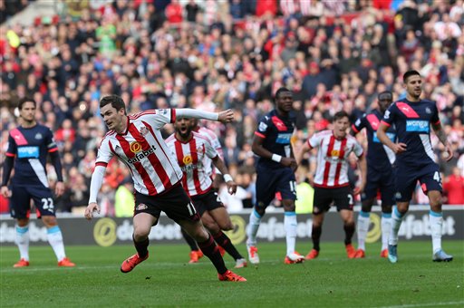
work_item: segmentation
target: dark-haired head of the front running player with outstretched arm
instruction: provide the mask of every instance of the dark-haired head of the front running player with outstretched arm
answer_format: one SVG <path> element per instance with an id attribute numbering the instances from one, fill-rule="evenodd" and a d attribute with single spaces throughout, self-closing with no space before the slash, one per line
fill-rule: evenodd
<path id="1" fill-rule="evenodd" d="M 125 127 L 126 104 L 117 95 L 108 95 L 100 101 L 100 115 L 109 130 L 120 131 Z"/>

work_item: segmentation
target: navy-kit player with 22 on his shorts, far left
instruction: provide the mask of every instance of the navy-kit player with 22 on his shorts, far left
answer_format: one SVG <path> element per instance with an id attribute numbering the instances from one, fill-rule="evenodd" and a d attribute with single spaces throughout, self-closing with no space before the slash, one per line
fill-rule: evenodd
<path id="1" fill-rule="evenodd" d="M 14 267 L 29 266 L 29 217 L 31 199 L 34 200 L 37 217 L 41 218 L 47 228 L 48 243 L 58 260 L 58 266 L 73 267 L 64 253 L 63 235 L 55 217 L 52 191 L 48 186 L 46 174 L 47 154 L 53 162 L 57 182 L 54 192 L 61 196 L 64 192 L 62 163 L 58 148 L 53 140 L 53 132 L 35 121 L 37 104 L 29 98 L 18 103 L 21 126 L 10 130 L 8 149 L 6 149 L 5 167 L 1 193 L 11 197 L 10 213 L 16 218 L 16 244 L 19 248 L 20 260 Z M 8 180 L 11 179 L 11 190 Z"/>

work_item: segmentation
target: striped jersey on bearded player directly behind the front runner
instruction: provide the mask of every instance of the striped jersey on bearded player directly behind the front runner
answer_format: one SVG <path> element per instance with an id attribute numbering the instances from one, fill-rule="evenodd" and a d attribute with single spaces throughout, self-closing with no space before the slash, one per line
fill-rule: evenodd
<path id="1" fill-rule="evenodd" d="M 210 165 L 210 159 L 216 158 L 218 151 L 198 132 L 192 131 L 192 134 L 187 142 L 178 140 L 175 134 L 172 134 L 166 143 L 184 172 L 182 186 L 190 196 L 197 196 L 205 194 L 212 187 L 213 181 L 205 171 L 205 163 Z"/>

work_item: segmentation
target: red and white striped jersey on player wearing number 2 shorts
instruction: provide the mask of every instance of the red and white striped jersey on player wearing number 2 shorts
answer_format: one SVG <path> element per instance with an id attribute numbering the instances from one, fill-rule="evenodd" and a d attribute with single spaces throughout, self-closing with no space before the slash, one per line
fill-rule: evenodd
<path id="1" fill-rule="evenodd" d="M 349 135 L 343 140 L 337 140 L 333 136 L 332 130 L 315 133 L 308 140 L 308 143 L 311 149 L 319 147 L 314 186 L 340 188 L 349 185 L 348 157 L 353 151 L 360 158 L 363 154 L 361 144 L 353 136 Z"/>

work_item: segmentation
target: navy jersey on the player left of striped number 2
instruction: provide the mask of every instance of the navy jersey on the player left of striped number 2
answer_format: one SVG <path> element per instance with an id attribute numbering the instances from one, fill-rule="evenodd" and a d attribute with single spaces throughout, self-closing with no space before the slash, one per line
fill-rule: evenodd
<path id="1" fill-rule="evenodd" d="M 263 148 L 282 157 L 291 157 L 290 141 L 295 130 L 295 117 L 281 117 L 277 111 L 271 111 L 259 121 L 255 135 L 264 138 Z M 268 168 L 287 168 L 271 159 L 259 158 L 257 163 Z"/>

